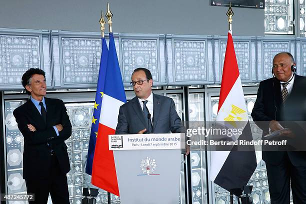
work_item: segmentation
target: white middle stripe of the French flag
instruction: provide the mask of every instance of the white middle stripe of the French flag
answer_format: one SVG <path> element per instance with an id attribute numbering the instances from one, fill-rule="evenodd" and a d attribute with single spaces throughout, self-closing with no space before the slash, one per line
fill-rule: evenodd
<path id="1" fill-rule="evenodd" d="M 104 124 L 112 129 L 115 129 L 117 126 L 119 107 L 122 104 L 124 104 L 124 102 L 122 102 L 121 100 L 113 98 L 104 93 L 99 123 Z"/>

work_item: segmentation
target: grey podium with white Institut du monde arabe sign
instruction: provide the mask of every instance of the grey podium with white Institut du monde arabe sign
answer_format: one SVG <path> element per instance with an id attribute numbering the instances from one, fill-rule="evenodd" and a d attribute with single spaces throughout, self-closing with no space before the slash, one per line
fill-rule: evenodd
<path id="1" fill-rule="evenodd" d="M 181 134 L 109 135 L 122 204 L 177 204 Z"/>

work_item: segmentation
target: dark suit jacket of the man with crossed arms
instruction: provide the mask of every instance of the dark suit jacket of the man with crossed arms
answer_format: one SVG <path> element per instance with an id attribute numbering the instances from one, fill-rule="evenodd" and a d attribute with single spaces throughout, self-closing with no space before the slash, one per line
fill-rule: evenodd
<path id="1" fill-rule="evenodd" d="M 70 170 L 67 146 L 64 143 L 71 135 L 71 123 L 66 108 L 63 101 L 59 99 L 44 97 L 44 101 L 47 124 L 44 123 L 42 116 L 30 99 L 13 111 L 18 128 L 24 137 L 24 179 L 49 175 L 50 146 L 55 152 L 61 171 L 67 173 Z M 32 124 L 36 131 L 30 131 L 27 124 Z M 56 135 L 53 128 L 56 124 L 63 125 L 59 136 Z"/>

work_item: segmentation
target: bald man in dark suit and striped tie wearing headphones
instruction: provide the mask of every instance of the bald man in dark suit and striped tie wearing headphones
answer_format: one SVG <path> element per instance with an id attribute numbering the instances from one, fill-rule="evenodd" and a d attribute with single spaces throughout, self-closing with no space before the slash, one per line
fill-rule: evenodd
<path id="1" fill-rule="evenodd" d="M 262 129 L 262 135 L 283 129 L 285 120 L 305 121 L 306 77 L 294 71 L 293 56 L 280 52 L 273 58 L 274 77 L 259 83 L 251 116 Z M 292 135 L 291 130 L 283 130 L 280 134 Z M 290 202 L 290 183 L 293 202 L 306 203 L 305 151 L 262 151 L 262 158 L 266 164 L 271 204 Z"/>

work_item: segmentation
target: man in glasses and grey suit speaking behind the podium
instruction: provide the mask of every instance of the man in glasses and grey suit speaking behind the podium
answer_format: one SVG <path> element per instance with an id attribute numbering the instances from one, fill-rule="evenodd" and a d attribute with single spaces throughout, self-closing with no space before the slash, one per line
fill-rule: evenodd
<path id="1" fill-rule="evenodd" d="M 130 83 L 136 96 L 120 106 L 116 134 L 184 131 L 173 99 L 152 92 L 152 75 L 148 69 L 136 68 Z"/>

